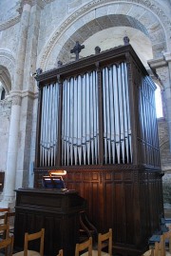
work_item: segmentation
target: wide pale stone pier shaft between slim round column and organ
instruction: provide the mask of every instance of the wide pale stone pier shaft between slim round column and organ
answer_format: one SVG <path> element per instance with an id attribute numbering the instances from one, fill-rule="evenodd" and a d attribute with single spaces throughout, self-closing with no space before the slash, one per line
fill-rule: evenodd
<path id="1" fill-rule="evenodd" d="M 21 108 L 20 157 L 16 172 L 16 187 L 33 187 L 33 165 L 35 158 L 35 135 L 37 120 L 37 88 L 30 73 L 34 73 L 37 61 L 37 45 L 42 10 L 41 1 L 32 1 L 28 26 L 28 41 L 25 56 L 23 98 Z"/>

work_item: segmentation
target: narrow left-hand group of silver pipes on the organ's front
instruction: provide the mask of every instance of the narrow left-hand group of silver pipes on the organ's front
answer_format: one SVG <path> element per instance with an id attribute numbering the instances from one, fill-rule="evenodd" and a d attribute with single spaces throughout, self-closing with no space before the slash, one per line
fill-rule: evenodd
<path id="1" fill-rule="evenodd" d="M 55 152 L 58 133 L 58 84 L 50 84 L 43 88 L 40 163 L 43 167 L 55 165 Z"/>

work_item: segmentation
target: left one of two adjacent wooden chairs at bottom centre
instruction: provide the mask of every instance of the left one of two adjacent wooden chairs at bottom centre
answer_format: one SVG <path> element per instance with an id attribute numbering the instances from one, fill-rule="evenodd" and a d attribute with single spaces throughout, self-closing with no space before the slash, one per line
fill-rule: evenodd
<path id="1" fill-rule="evenodd" d="M 75 246 L 75 256 L 79 256 L 81 251 L 87 251 L 81 255 L 92 256 L 92 237 L 81 244 L 76 244 Z"/>

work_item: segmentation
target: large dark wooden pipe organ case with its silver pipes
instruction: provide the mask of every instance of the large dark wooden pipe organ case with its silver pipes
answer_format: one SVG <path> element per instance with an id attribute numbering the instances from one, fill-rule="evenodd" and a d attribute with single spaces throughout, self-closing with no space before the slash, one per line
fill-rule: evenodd
<path id="1" fill-rule="evenodd" d="M 113 251 L 141 255 L 163 215 L 155 85 L 131 45 L 42 72 L 34 187 L 66 169 Z"/>

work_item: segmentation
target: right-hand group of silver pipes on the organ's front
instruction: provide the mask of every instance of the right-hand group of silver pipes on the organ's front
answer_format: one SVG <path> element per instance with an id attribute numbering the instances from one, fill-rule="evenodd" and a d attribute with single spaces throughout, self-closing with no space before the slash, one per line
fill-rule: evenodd
<path id="1" fill-rule="evenodd" d="M 125 63 L 103 69 L 104 164 L 131 163 L 131 129 Z"/>

